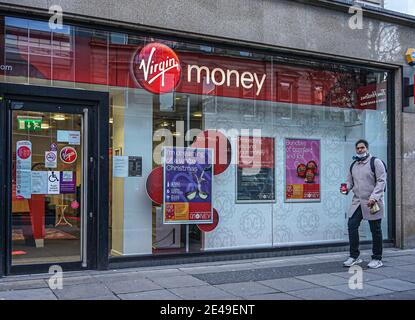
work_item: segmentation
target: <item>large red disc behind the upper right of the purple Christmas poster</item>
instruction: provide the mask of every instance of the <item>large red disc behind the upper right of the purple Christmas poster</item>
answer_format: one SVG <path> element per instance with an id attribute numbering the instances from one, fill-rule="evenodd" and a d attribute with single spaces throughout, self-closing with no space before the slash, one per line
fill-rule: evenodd
<path id="1" fill-rule="evenodd" d="M 217 130 L 205 130 L 199 133 L 192 148 L 212 148 L 215 154 L 213 173 L 224 172 L 231 163 L 232 147 L 226 136 Z"/>

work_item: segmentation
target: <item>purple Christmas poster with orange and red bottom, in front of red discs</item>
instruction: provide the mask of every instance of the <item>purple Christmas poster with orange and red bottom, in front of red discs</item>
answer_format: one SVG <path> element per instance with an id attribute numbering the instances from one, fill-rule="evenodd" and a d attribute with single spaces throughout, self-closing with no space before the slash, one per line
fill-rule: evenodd
<path id="1" fill-rule="evenodd" d="M 212 223 L 213 149 L 163 150 L 163 223 Z"/>

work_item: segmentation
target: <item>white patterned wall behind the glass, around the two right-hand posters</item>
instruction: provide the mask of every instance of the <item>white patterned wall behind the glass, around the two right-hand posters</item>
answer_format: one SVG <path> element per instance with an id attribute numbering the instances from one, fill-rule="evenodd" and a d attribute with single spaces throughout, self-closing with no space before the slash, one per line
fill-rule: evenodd
<path id="1" fill-rule="evenodd" d="M 242 103 L 244 105 L 242 105 Z M 255 104 L 255 105 L 254 105 Z M 252 111 L 256 110 L 252 116 Z M 235 165 L 215 177 L 214 207 L 218 227 L 204 235 L 204 249 L 271 247 L 320 243 L 347 239 L 346 211 L 351 198 L 340 194 L 346 179 L 356 137 L 368 130 L 384 130 L 380 120 L 366 122 L 365 111 L 281 103 L 241 102 L 219 99 L 216 112 L 205 114 L 205 129 L 261 129 L 262 136 L 276 143 L 276 202 L 235 203 Z M 380 113 L 377 111 L 372 111 Z M 359 115 L 358 115 L 359 114 Z M 363 119 L 363 122 L 362 122 Z M 368 127 L 370 129 L 368 129 Z M 235 154 L 235 137 L 228 134 Z M 312 138 L 321 141 L 321 202 L 284 202 L 284 138 Z M 377 150 L 386 152 L 386 141 L 376 140 Z M 386 161 L 386 157 L 382 158 Z M 361 235 L 370 231 L 362 224 Z"/>

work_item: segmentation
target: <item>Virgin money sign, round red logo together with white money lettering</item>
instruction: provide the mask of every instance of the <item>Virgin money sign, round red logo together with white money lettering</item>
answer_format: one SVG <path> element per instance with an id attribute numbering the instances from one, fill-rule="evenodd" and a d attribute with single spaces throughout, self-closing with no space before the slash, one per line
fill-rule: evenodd
<path id="1" fill-rule="evenodd" d="M 177 88 L 177 92 L 266 99 L 265 63 L 195 53 L 180 57 L 182 61 L 164 44 L 150 43 L 134 54 L 132 73 L 141 87 L 155 94 Z"/>

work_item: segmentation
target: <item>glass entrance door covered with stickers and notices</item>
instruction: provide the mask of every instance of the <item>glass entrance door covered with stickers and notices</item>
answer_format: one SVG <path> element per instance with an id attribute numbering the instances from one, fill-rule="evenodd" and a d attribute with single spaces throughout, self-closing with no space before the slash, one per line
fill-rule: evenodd
<path id="1" fill-rule="evenodd" d="M 11 110 L 11 267 L 80 263 L 85 115 L 34 110 Z"/>

